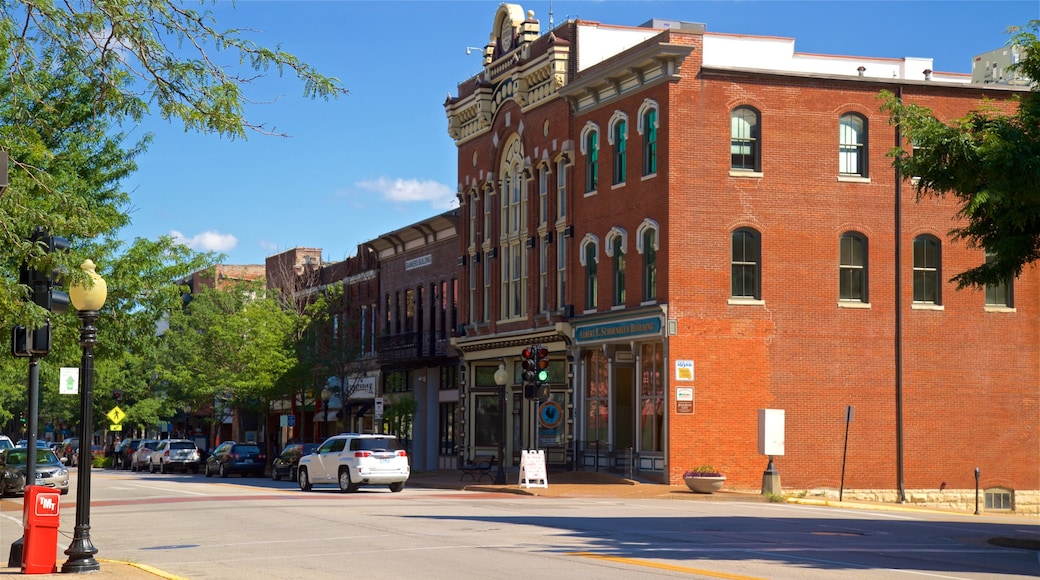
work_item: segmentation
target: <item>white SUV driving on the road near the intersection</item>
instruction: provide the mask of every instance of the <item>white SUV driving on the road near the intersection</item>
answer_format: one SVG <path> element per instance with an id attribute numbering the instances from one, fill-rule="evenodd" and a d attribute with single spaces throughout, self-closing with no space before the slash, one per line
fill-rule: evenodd
<path id="1" fill-rule="evenodd" d="M 408 453 L 396 437 L 340 433 L 300 458 L 298 481 L 305 492 L 316 483 L 338 483 L 340 492 L 357 492 L 362 485 L 399 492 L 409 472 Z"/>

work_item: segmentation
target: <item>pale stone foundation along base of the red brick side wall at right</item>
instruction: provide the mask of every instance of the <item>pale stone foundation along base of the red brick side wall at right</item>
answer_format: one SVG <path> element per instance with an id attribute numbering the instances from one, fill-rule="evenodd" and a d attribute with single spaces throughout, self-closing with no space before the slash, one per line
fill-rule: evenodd
<path id="1" fill-rule="evenodd" d="M 784 490 L 783 495 L 812 499 L 837 501 L 838 491 L 832 489 Z M 865 501 L 875 503 L 899 503 L 895 490 L 846 490 L 842 501 Z M 907 490 L 904 505 L 933 507 L 974 513 L 974 490 Z M 990 510 L 991 513 L 1014 513 L 1016 516 L 1040 516 L 1040 490 L 1011 491 L 1012 509 Z M 979 512 L 986 512 L 985 490 L 979 491 Z"/>

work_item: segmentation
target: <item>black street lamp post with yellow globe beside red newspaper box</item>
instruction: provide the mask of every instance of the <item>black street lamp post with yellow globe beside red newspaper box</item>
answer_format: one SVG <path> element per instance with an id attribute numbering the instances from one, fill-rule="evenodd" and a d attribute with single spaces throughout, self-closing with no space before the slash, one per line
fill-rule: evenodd
<path id="1" fill-rule="evenodd" d="M 90 443 L 94 441 L 94 344 L 98 331 L 94 323 L 98 313 L 105 306 L 108 286 L 95 271 L 94 262 L 84 260 L 80 266 L 90 279 L 89 287 L 74 284 L 69 288 L 69 297 L 76 309 L 82 326 L 79 329 L 79 344 L 83 347 L 83 359 L 79 368 L 79 449 L 81 460 L 76 475 L 76 528 L 72 544 L 66 550 L 69 559 L 61 566 L 63 573 L 98 572 L 101 564 L 94 558 L 98 549 L 90 542 Z M 85 451 L 85 453 L 83 453 Z"/>

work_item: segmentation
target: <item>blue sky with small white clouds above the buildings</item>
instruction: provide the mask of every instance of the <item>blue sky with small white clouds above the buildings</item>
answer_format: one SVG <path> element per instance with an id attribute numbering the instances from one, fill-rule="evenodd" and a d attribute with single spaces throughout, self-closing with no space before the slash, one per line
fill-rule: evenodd
<path id="1" fill-rule="evenodd" d="M 217 28 L 244 28 L 339 78 L 349 95 L 302 97 L 290 76 L 246 87 L 246 116 L 289 137 L 230 140 L 150 120 L 139 170 L 124 182 L 132 223 L 122 237 L 174 235 L 228 264 L 262 264 L 295 246 L 327 260 L 453 207 L 456 149 L 444 101 L 480 70 L 498 1 L 238 0 L 211 6 Z M 1009 26 L 1040 19 L 1023 1 L 558 1 L 520 2 L 542 32 L 570 18 L 638 26 L 659 18 L 709 32 L 794 37 L 799 52 L 932 57 L 969 73 L 971 58 L 1003 46 Z M 230 58 L 227 57 L 225 60 Z"/>

